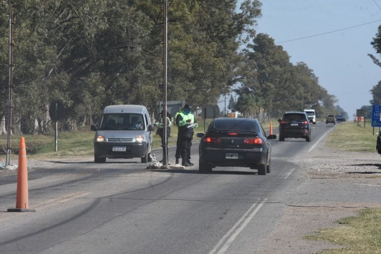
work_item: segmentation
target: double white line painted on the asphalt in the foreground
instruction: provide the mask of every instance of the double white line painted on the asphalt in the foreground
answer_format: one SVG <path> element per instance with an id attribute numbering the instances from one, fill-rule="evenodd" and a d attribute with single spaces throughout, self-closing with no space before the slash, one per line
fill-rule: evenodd
<path id="1" fill-rule="evenodd" d="M 259 201 L 258 198 L 257 201 Z M 262 205 L 266 202 L 267 198 L 263 199 L 263 201 L 257 203 L 255 202 L 249 210 L 237 221 L 236 224 L 224 235 L 223 238 L 217 243 L 217 245 L 209 252 L 209 254 L 223 254 L 229 248 L 229 246 L 233 243 L 234 239 L 239 235 L 239 233 L 249 224 L 250 220 L 254 217 L 257 211 L 262 207 Z M 256 207 L 255 207 L 256 206 Z M 255 209 L 254 209 L 255 208 Z M 254 209 L 254 210 L 253 210 Z M 253 211 L 252 211 L 253 210 Z M 230 237 L 229 237 L 230 236 Z M 226 240 L 227 239 L 227 240 Z M 225 242 L 226 241 L 226 242 Z M 225 242 L 224 245 L 222 245 Z M 222 246 L 222 247 L 221 247 Z M 221 249 L 217 252 L 217 250 L 221 247 Z"/>

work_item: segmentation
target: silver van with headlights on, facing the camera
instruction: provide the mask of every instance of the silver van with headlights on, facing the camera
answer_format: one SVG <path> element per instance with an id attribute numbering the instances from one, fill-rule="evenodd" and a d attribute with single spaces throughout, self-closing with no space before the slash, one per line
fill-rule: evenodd
<path id="1" fill-rule="evenodd" d="M 94 136 L 94 162 L 106 158 L 141 158 L 150 161 L 154 125 L 148 110 L 142 105 L 111 105 L 103 110 Z"/>

